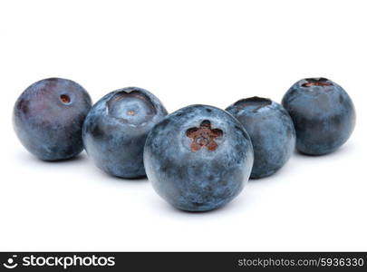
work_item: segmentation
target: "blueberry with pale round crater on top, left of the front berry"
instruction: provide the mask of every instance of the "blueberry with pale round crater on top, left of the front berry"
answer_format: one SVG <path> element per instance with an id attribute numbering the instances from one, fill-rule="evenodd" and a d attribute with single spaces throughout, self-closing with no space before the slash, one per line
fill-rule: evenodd
<path id="1" fill-rule="evenodd" d="M 94 163 L 112 176 L 145 177 L 148 133 L 168 112 L 152 93 L 128 87 L 105 95 L 84 121 L 82 139 Z"/>

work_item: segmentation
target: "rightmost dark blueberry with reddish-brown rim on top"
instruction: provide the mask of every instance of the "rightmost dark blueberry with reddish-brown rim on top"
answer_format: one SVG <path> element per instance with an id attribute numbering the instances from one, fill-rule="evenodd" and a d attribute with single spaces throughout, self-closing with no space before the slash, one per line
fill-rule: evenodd
<path id="1" fill-rule="evenodd" d="M 351 98 L 340 85 L 325 78 L 295 83 L 282 103 L 295 123 L 296 148 L 304 154 L 333 152 L 354 130 L 356 116 Z"/>

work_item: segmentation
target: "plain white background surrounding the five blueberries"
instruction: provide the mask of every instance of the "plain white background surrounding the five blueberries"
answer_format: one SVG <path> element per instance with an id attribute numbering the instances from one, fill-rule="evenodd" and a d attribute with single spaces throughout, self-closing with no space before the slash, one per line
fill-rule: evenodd
<path id="1" fill-rule="evenodd" d="M 0 250 L 367 250 L 366 1 L 0 3 Z M 357 126 L 333 154 L 295 154 L 223 209 L 186 213 L 85 153 L 47 163 L 24 150 L 14 102 L 52 76 L 93 102 L 140 86 L 169 112 L 280 102 L 295 81 L 324 76 L 353 98 Z"/>

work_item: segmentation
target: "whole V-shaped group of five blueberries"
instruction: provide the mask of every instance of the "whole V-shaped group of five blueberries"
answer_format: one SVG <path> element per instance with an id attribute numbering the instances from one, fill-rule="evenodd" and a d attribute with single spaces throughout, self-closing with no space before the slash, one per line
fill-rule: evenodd
<path id="1" fill-rule="evenodd" d="M 348 93 L 325 78 L 295 83 L 282 101 L 251 97 L 226 111 L 191 105 L 168 114 L 151 92 L 110 92 L 92 105 L 81 85 L 49 78 L 29 86 L 14 105 L 14 131 L 40 160 L 67 160 L 83 148 L 105 172 L 148 176 L 177 209 L 207 211 L 236 198 L 249 178 L 283 167 L 295 148 L 335 151 L 351 136 Z"/>

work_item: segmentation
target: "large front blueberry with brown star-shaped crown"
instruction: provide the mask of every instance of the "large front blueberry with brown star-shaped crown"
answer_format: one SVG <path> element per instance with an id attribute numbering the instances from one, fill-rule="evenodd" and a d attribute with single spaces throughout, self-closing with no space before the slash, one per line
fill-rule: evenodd
<path id="1" fill-rule="evenodd" d="M 241 123 L 207 105 L 169 114 L 150 131 L 144 148 L 153 188 L 186 211 L 217 209 L 237 197 L 253 161 L 252 144 Z"/>

